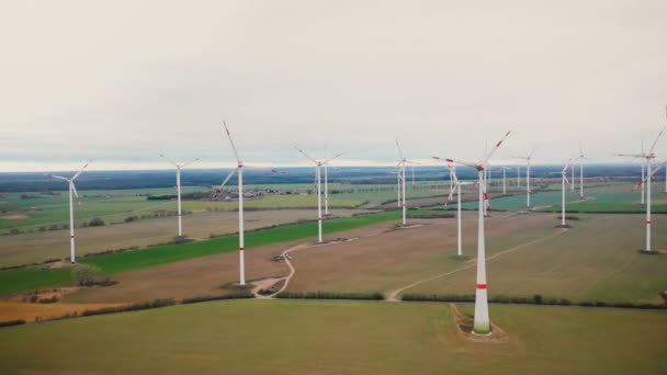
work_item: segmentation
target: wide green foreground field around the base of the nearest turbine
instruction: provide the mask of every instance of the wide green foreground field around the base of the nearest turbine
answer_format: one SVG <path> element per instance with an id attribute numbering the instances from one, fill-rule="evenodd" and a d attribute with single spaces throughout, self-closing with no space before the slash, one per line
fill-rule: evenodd
<path id="1" fill-rule="evenodd" d="M 444 304 L 230 300 L 174 306 L 0 329 L 0 372 L 667 372 L 665 311 L 491 305 L 490 312 L 508 342 L 460 338 Z"/>

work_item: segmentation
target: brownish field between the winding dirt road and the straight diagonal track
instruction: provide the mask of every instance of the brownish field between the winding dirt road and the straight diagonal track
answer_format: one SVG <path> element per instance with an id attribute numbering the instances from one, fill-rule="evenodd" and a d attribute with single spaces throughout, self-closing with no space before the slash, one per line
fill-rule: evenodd
<path id="1" fill-rule="evenodd" d="M 553 234 L 555 215 L 498 213 L 487 220 L 487 252 Z M 308 248 L 291 253 L 296 274 L 290 292 L 383 292 L 389 293 L 415 281 L 473 264 L 476 255 L 476 213 L 463 216 L 463 252 L 456 254 L 456 220 L 412 219 L 423 227 L 370 232 L 352 242 Z M 474 285 L 474 284 L 471 284 Z"/>

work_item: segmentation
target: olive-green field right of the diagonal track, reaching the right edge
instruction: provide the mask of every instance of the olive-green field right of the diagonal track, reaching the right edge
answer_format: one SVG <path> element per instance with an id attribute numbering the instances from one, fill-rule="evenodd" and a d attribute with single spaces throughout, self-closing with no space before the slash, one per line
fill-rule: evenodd
<path id="1" fill-rule="evenodd" d="M 643 224 L 638 214 L 587 215 L 561 236 L 497 257 L 487 262 L 489 296 L 659 304 L 667 289 L 667 257 L 637 252 Z M 666 219 L 655 219 L 653 235 L 656 248 L 667 248 Z M 475 268 L 467 268 L 405 293 L 471 295 L 474 285 Z"/>

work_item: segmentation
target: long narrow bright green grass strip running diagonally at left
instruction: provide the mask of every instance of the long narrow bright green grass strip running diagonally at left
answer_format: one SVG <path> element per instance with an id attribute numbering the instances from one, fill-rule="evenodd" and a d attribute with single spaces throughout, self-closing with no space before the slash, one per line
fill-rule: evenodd
<path id="1" fill-rule="evenodd" d="M 397 220 L 398 213 L 389 212 L 371 214 L 350 218 L 332 219 L 324 224 L 327 234 L 344 231 L 352 228 L 372 224 Z M 315 237 L 317 223 L 294 224 L 279 228 L 264 229 L 246 235 L 246 248 L 252 248 L 293 241 Z M 172 245 L 155 247 L 147 250 L 127 251 L 113 254 L 95 255 L 80 259 L 80 263 L 94 265 L 103 273 L 137 270 L 159 264 L 182 261 L 186 259 L 218 254 L 238 249 L 238 236 L 231 235 L 208 241 L 186 245 Z M 31 291 L 35 285 L 39 287 L 53 286 L 71 282 L 71 277 L 64 270 L 34 270 L 23 269 L 0 272 L 0 296 Z"/>

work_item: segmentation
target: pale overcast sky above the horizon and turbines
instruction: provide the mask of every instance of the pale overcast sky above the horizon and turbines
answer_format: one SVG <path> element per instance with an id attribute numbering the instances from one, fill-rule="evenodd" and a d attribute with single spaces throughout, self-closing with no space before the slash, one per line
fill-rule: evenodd
<path id="1" fill-rule="evenodd" d="M 2 1 L 0 171 L 563 162 L 667 124 L 667 1 Z M 667 157 L 667 139 L 657 148 Z M 662 156 L 662 157 L 660 157 Z"/>

